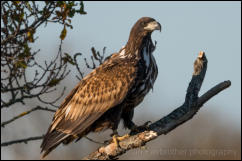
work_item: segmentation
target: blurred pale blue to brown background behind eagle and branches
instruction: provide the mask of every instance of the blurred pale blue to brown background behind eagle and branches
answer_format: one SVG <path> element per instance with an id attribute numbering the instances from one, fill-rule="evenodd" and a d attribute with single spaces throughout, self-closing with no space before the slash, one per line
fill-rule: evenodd
<path id="1" fill-rule="evenodd" d="M 90 57 L 91 47 L 106 56 L 119 51 L 128 40 L 132 25 L 141 17 L 155 18 L 162 32 L 154 32 L 157 41 L 154 57 L 159 68 L 154 91 L 135 110 L 134 122 L 154 122 L 184 102 L 199 51 L 208 58 L 207 74 L 200 95 L 224 80 L 232 85 L 209 100 L 193 119 L 167 135 L 120 156 L 120 159 L 241 159 L 241 2 L 84 2 L 87 15 L 72 20 L 63 51 L 81 52 Z M 33 49 L 41 49 L 39 61 L 51 59 L 58 51 L 63 27 L 40 27 Z M 82 71 L 89 73 L 80 59 Z M 65 96 L 78 83 L 73 67 L 62 81 Z M 31 77 L 31 72 L 30 72 Z M 61 90 L 60 90 L 61 91 Z M 57 93 L 58 94 L 58 93 Z M 48 96 L 51 99 L 50 96 Z M 53 96 L 55 98 L 55 96 Z M 31 109 L 14 105 L 1 111 L 1 122 Z M 38 136 L 49 127 L 53 113 L 36 111 L 1 128 L 1 142 Z M 128 131 L 119 128 L 120 134 Z M 88 135 L 96 141 L 109 139 L 111 130 Z M 1 159 L 40 159 L 41 140 L 1 147 Z M 81 159 L 100 145 L 81 139 L 59 146 L 47 159 Z"/>

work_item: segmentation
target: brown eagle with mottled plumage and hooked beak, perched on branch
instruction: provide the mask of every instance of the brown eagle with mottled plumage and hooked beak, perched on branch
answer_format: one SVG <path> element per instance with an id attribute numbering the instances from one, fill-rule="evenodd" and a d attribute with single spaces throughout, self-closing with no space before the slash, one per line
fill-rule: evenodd
<path id="1" fill-rule="evenodd" d="M 135 130 L 134 108 L 153 89 L 158 68 L 151 34 L 161 25 L 150 17 L 132 27 L 127 44 L 85 76 L 57 109 L 41 144 L 42 158 L 61 143 L 78 141 L 90 132 L 112 129 L 121 120 Z M 111 136 L 112 136 L 111 135 Z"/>

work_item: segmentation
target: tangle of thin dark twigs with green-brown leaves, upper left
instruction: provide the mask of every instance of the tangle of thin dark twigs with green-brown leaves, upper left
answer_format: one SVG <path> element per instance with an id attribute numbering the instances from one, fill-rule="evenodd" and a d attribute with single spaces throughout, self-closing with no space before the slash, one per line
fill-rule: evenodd
<path id="1" fill-rule="evenodd" d="M 55 106 L 62 95 L 52 102 L 41 96 L 55 91 L 55 86 L 69 73 L 67 66 L 75 64 L 69 54 L 62 53 L 61 47 L 68 28 L 73 28 L 71 19 L 76 14 L 86 14 L 83 2 L 1 1 L 1 108 L 25 104 L 28 98 Z M 38 39 L 38 28 L 48 23 L 63 26 L 61 43 L 56 57 L 41 65 L 36 61 L 40 50 L 33 51 L 30 45 Z M 28 71 L 35 71 L 32 78 L 28 79 Z"/>

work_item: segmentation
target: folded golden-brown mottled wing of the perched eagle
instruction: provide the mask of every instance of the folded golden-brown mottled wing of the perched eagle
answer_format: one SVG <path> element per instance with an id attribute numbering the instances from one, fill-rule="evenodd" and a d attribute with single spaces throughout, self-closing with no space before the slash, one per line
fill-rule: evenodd
<path id="1" fill-rule="evenodd" d="M 106 61 L 85 77 L 57 110 L 50 132 L 81 134 L 110 108 L 120 104 L 135 79 L 134 63 Z"/>

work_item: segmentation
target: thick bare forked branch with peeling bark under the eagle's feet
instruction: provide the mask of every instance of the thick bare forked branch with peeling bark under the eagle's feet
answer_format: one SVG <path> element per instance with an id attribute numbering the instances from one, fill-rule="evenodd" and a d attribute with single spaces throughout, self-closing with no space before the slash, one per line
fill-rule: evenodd
<path id="1" fill-rule="evenodd" d="M 230 81 L 224 81 L 211 88 L 201 97 L 198 97 L 198 93 L 206 74 L 206 70 L 207 59 L 205 53 L 200 52 L 198 58 L 194 62 L 194 73 L 192 80 L 187 88 L 187 94 L 183 105 L 175 109 L 167 116 L 149 125 L 146 131 L 139 131 L 136 134 L 132 133 L 132 135 L 128 138 L 120 141 L 119 146 L 116 146 L 115 143 L 110 143 L 98 148 L 97 151 L 89 154 L 83 159 L 109 160 L 117 158 L 126 151 L 141 147 L 147 142 L 154 140 L 159 135 L 167 134 L 177 126 L 190 120 L 205 102 L 231 85 Z"/>

